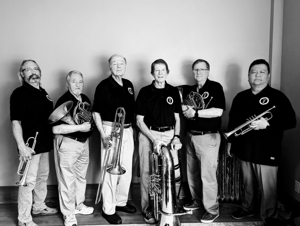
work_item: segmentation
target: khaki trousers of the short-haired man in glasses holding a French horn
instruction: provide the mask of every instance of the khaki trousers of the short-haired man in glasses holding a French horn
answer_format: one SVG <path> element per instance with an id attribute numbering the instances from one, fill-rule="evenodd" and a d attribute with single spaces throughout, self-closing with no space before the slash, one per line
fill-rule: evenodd
<path id="1" fill-rule="evenodd" d="M 194 203 L 211 214 L 219 213 L 217 159 L 220 134 L 187 133 L 187 181 Z"/>

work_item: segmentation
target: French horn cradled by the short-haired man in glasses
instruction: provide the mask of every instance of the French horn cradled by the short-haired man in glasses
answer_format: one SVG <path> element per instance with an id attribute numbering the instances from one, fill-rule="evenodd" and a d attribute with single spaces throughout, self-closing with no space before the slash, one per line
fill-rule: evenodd
<path id="1" fill-rule="evenodd" d="M 208 104 L 210 103 L 210 101 L 212 99 L 212 97 L 211 97 L 210 100 L 208 101 L 208 103 L 205 104 L 203 96 L 200 95 L 197 92 L 192 91 L 192 92 L 189 93 L 189 95 L 187 95 L 185 100 L 183 100 L 183 96 L 182 96 L 183 88 L 182 88 L 182 86 L 177 86 L 177 89 L 179 91 L 179 95 L 180 95 L 182 105 L 188 105 L 191 108 L 193 108 L 194 110 L 206 109 L 206 107 L 208 106 Z M 194 118 L 187 118 L 187 119 L 194 119 Z"/>

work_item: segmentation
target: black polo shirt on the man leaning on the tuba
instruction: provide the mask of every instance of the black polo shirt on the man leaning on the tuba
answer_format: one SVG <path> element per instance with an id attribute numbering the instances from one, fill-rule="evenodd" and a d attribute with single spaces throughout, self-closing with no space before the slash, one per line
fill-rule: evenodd
<path id="1" fill-rule="evenodd" d="M 165 127 L 175 125 L 174 113 L 181 113 L 178 89 L 165 82 L 165 88 L 151 85 L 143 87 L 137 95 L 135 113 L 144 116 L 148 126 Z"/>

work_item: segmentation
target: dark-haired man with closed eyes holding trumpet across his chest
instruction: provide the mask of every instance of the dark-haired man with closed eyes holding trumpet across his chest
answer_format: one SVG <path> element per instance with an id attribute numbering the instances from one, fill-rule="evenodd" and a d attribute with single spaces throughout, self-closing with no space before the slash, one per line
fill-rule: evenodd
<path id="1" fill-rule="evenodd" d="M 235 219 L 254 215 L 254 200 L 258 186 L 262 194 L 260 216 L 277 218 L 277 169 L 281 154 L 283 131 L 296 126 L 295 111 L 289 99 L 268 85 L 270 67 L 258 59 L 250 64 L 248 82 L 250 89 L 238 93 L 229 112 L 228 131 L 271 109 L 270 113 L 250 124 L 253 128 L 240 136 L 229 137 L 227 153 L 238 157 L 244 182 L 242 208 L 232 212 Z M 247 128 L 247 127 L 246 127 Z M 237 131 L 239 133 L 241 131 Z"/>

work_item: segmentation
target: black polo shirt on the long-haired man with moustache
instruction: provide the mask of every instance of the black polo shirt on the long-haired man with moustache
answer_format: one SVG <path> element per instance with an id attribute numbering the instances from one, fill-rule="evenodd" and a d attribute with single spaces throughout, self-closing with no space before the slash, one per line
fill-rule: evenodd
<path id="1" fill-rule="evenodd" d="M 21 121 L 24 142 L 39 132 L 35 144 L 36 154 L 53 149 L 52 127 L 48 124 L 52 111 L 53 102 L 41 86 L 36 89 L 25 82 L 10 96 L 10 121 Z M 32 147 L 32 142 L 33 139 L 30 139 L 29 147 Z"/>

